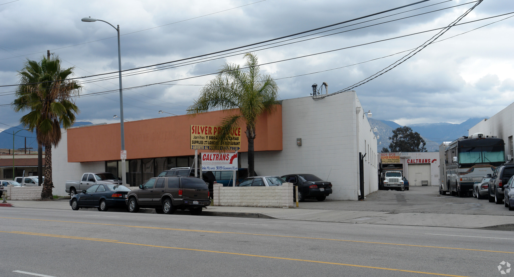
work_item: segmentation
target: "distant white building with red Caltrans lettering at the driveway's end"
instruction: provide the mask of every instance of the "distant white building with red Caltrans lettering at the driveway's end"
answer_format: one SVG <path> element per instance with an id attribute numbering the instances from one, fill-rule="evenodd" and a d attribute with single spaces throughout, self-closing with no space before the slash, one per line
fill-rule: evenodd
<path id="1" fill-rule="evenodd" d="M 403 172 L 409 186 L 439 185 L 439 152 L 379 153 L 382 168 Z"/>

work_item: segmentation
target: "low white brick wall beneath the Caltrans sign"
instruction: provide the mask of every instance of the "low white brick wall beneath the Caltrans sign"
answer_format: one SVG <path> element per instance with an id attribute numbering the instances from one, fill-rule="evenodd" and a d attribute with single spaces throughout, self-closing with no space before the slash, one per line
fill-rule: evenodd
<path id="1" fill-rule="evenodd" d="M 292 207 L 293 185 L 231 187 L 214 184 L 214 206 Z"/>

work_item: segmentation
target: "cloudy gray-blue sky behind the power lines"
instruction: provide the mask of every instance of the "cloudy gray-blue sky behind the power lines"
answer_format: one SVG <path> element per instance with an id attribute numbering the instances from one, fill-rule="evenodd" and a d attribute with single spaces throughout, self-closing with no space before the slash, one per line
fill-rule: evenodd
<path id="1" fill-rule="evenodd" d="M 279 38 L 415 2 L 411 1 L 4 0 L 0 2 L 0 85 L 16 84 L 16 71 L 27 59 L 40 60 L 46 50 L 58 55 L 64 67 L 74 66 L 76 77 L 117 71 L 116 30 L 103 22 L 81 22 L 85 16 L 120 25 L 122 70 L 127 70 Z M 248 51 L 255 53 L 261 63 L 274 62 L 261 70 L 277 79 L 281 99 L 309 96 L 313 83 L 327 82 L 328 92 L 336 92 L 392 64 L 405 56 L 406 50 L 432 38 L 437 30 L 312 54 L 446 27 L 475 3 L 430 0 L 320 30 L 331 30 L 324 33 L 311 32 L 306 33 L 311 34 L 308 37 L 296 36 L 287 42 L 230 51 L 218 59 L 127 71 L 124 88 L 171 82 L 125 90 L 124 115 L 127 120 L 137 120 L 169 116 L 158 114 L 159 110 L 186 113 L 201 86 L 212 78 L 195 76 L 215 73 L 226 62 L 242 64 L 243 54 Z M 426 13 L 430 11 L 435 12 Z M 513 1 L 484 0 L 460 23 L 508 12 L 514 12 Z M 426 14 L 417 15 L 420 13 Z M 508 18 L 512 15 L 455 26 L 406 62 L 358 86 L 354 90 L 363 109 L 371 110 L 376 119 L 408 125 L 461 123 L 469 117 L 492 116 L 505 108 L 514 101 L 514 18 Z M 402 19 L 407 16 L 411 17 Z M 369 26 L 377 23 L 383 24 Z M 332 30 L 335 28 L 339 29 Z M 341 31 L 345 32 L 336 34 Z M 320 37 L 324 34 L 331 35 Z M 309 38 L 315 39 L 301 41 Z M 290 42 L 295 43 L 282 45 Z M 277 45 L 282 46 L 262 49 Z M 281 61 L 306 55 L 311 56 Z M 79 79 L 84 88 L 76 99 L 81 110 L 77 117 L 93 123 L 118 122 L 113 118 L 119 115 L 118 92 L 100 93 L 118 89 L 117 74 L 101 77 L 110 78 Z M 188 77 L 195 78 L 173 81 Z M 13 101 L 14 90 L 13 86 L 0 87 L 0 130 L 18 125 L 23 115 L 2 106 Z"/>

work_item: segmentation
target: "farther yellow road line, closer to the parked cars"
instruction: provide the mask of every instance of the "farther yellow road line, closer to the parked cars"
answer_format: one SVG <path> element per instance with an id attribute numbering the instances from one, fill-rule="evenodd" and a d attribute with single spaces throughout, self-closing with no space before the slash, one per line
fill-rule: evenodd
<path id="1" fill-rule="evenodd" d="M 203 233 L 223 233 L 223 234 L 254 235 L 254 236 L 272 236 L 272 237 L 290 237 L 290 238 L 321 239 L 321 240 L 333 240 L 333 241 L 347 241 L 347 242 L 351 242 L 351 243 L 383 244 L 383 245 L 398 245 L 398 246 L 412 246 L 412 247 L 428 247 L 428 248 L 439 248 L 439 249 L 453 249 L 453 250 L 467 250 L 467 251 L 482 251 L 482 252 L 494 252 L 494 253 L 507 253 L 507 254 L 514 254 L 514 252 L 507 252 L 507 251 L 481 250 L 481 249 L 467 249 L 467 248 L 455 248 L 455 247 L 443 247 L 443 246 L 428 246 L 428 245 L 410 245 L 410 244 L 378 243 L 378 242 L 376 242 L 376 241 L 360 241 L 360 240 L 347 240 L 347 239 L 335 239 L 335 238 L 298 237 L 298 236 L 267 235 L 267 234 L 237 233 L 237 232 L 223 232 L 223 231 L 206 231 L 206 230 L 194 230 L 194 229 L 176 229 L 176 228 L 150 227 L 150 226 L 132 226 L 132 225 L 122 225 L 122 224 L 94 223 L 94 222 L 77 222 L 77 221 L 62 221 L 62 220 L 33 219 L 33 218 L 16 218 L 16 217 L 0 217 L 0 218 L 8 218 L 8 219 L 24 219 L 24 220 L 40 220 L 40 221 L 52 221 L 52 222 L 67 222 L 67 223 L 82 223 L 82 224 L 96 224 L 96 225 L 120 226 L 120 227 L 131 227 L 131 228 L 145 228 L 145 229 L 159 229 L 159 230 L 172 230 L 172 231 L 188 231 L 188 232 L 203 232 Z"/>

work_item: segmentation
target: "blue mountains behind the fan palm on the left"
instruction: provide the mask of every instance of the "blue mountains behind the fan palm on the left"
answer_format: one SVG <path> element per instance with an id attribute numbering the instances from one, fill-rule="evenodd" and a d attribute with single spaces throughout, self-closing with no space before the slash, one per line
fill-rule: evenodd
<path id="1" fill-rule="evenodd" d="M 73 126 L 82 126 L 93 124 L 90 122 L 76 122 Z M 0 149 L 12 149 L 12 137 L 14 134 L 14 149 L 29 148 L 30 151 L 38 151 L 38 141 L 35 139 L 35 132 L 30 132 L 23 129 L 22 125 L 11 127 L 0 132 Z M 25 137 L 27 138 L 27 146 L 25 146 Z M 27 150 L 28 153 L 28 150 Z"/>

